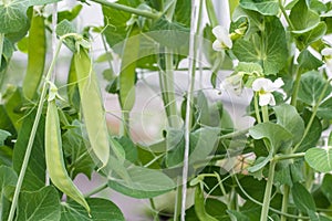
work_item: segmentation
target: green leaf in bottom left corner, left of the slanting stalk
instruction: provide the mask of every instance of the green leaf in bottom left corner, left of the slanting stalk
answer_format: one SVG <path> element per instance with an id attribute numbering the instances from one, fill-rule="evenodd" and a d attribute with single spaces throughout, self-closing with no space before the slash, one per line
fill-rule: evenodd
<path id="1" fill-rule="evenodd" d="M 0 220 L 7 220 L 18 176 L 12 168 L 0 166 Z"/>

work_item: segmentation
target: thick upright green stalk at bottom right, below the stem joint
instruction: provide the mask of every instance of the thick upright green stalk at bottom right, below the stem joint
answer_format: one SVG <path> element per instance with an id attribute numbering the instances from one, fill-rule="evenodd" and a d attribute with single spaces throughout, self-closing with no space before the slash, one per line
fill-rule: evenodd
<path id="1" fill-rule="evenodd" d="M 276 164 L 277 164 L 277 161 L 273 160 L 273 159 L 270 161 L 269 176 L 268 176 L 268 182 L 267 182 L 267 186 L 266 186 L 263 204 L 262 204 L 262 208 L 261 208 L 260 221 L 267 221 L 268 220 L 270 200 L 271 200 L 271 192 L 272 192 L 272 187 L 273 187 L 273 177 L 274 177 Z"/>

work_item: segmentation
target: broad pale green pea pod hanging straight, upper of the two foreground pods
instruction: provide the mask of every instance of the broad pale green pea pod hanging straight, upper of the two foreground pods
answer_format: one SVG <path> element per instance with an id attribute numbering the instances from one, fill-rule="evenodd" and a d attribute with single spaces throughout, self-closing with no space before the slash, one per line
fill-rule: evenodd
<path id="1" fill-rule="evenodd" d="M 74 61 L 87 137 L 94 154 L 103 162 L 102 167 L 105 167 L 110 157 L 110 143 L 100 86 L 84 49 L 81 48 L 74 54 Z"/>

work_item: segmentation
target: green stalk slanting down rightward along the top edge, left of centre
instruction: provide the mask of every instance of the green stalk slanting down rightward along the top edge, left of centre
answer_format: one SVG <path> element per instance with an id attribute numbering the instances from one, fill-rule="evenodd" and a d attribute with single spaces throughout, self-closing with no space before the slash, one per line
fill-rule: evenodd
<path id="1" fill-rule="evenodd" d="M 110 1 L 105 1 L 105 0 L 91 0 L 91 1 L 103 4 L 105 7 L 111 7 L 113 9 L 117 9 L 117 10 L 121 10 L 121 11 L 125 11 L 125 12 L 128 12 L 128 13 L 145 17 L 145 18 L 148 18 L 148 19 L 157 20 L 162 15 L 159 12 L 158 13 L 153 13 L 153 12 L 149 12 L 149 11 L 146 11 L 146 10 L 135 9 L 135 8 L 132 8 L 132 7 L 127 7 L 127 6 L 124 6 L 124 4 L 114 3 L 114 2 L 110 2 Z"/>

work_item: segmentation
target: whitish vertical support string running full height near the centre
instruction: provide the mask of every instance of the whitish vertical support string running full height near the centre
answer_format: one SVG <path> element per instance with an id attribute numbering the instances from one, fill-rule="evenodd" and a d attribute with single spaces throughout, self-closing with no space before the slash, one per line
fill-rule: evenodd
<path id="1" fill-rule="evenodd" d="M 201 8 L 201 7 L 199 7 Z M 190 20 L 190 40 L 189 40 L 189 86 L 187 91 L 186 103 L 186 118 L 185 118 L 185 151 L 184 151 L 184 167 L 183 167 L 183 199 L 181 199 L 181 215 L 180 220 L 185 221 L 186 217 L 186 197 L 187 197 L 187 181 L 188 181 L 188 166 L 189 166 L 189 144 L 190 144 L 190 130 L 191 130 L 191 102 L 194 98 L 195 88 L 195 70 L 196 70 L 196 55 L 197 55 L 197 42 L 196 33 L 199 31 L 199 24 L 197 21 L 197 8 L 196 1 L 191 1 L 191 20 Z"/>

